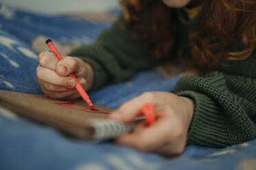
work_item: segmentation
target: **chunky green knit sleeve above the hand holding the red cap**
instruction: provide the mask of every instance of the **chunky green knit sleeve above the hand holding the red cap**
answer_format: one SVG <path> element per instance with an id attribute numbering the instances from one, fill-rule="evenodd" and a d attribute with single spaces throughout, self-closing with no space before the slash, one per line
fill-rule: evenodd
<path id="1" fill-rule="evenodd" d="M 226 147 L 255 136 L 256 62 L 237 61 L 223 68 L 176 84 L 174 93 L 196 104 L 188 144 Z"/>

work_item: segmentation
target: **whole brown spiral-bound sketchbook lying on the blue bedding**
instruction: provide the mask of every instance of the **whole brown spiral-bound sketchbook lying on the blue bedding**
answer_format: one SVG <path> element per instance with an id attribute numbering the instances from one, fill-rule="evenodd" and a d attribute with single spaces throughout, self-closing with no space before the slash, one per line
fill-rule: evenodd
<path id="1" fill-rule="evenodd" d="M 0 90 L 0 105 L 28 119 L 56 127 L 71 136 L 86 140 L 106 140 L 132 131 L 140 121 L 121 123 L 108 119 L 113 108 L 94 105 L 84 101 L 63 101 L 44 95 L 31 95 Z"/>

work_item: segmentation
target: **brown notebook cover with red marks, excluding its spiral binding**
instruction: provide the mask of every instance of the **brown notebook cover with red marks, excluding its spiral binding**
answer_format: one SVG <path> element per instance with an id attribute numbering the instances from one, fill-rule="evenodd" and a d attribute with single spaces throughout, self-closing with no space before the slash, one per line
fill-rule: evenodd
<path id="1" fill-rule="evenodd" d="M 91 110 L 82 100 L 63 101 L 8 90 L 0 90 L 0 104 L 23 117 L 82 139 L 91 139 L 93 135 L 90 119 L 107 119 L 113 110 L 100 105 L 94 105 L 96 110 Z"/>

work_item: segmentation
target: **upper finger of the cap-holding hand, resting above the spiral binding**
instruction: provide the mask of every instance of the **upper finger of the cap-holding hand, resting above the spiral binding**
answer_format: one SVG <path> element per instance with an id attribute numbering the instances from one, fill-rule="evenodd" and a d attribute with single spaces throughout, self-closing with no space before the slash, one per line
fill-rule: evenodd
<path id="1" fill-rule="evenodd" d="M 110 119 L 117 119 L 125 123 L 132 121 L 141 114 L 141 106 L 148 101 L 152 101 L 151 95 L 151 93 L 144 93 L 139 97 L 126 101 L 126 103 L 122 104 L 117 110 L 114 110 L 112 114 L 110 114 Z"/>

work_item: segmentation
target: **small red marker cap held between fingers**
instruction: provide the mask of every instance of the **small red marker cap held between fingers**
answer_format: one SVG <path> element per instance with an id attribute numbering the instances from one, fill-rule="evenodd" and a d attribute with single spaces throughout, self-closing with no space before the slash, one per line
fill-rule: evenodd
<path id="1" fill-rule="evenodd" d="M 141 112 L 144 114 L 146 122 L 151 125 L 156 120 L 156 112 L 154 110 L 154 104 L 148 102 L 143 104 L 141 107 Z"/>

